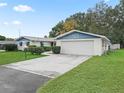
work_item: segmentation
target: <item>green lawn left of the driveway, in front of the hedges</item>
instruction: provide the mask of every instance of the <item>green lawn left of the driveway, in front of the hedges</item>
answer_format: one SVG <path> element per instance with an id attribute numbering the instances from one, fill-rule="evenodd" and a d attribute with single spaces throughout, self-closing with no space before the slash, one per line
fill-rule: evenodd
<path id="1" fill-rule="evenodd" d="M 44 57 L 46 55 L 32 55 L 27 53 L 27 58 L 25 59 L 24 52 L 0 52 L 0 65 L 15 63 L 19 61 L 29 60 L 38 57 Z"/>

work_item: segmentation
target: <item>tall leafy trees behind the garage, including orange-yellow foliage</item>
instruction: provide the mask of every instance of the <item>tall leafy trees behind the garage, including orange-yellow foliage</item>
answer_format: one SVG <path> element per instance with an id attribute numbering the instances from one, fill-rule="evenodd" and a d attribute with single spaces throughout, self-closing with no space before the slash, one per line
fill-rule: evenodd
<path id="1" fill-rule="evenodd" d="M 56 37 L 73 29 L 105 35 L 112 43 L 120 43 L 124 47 L 124 0 L 115 7 L 101 1 L 86 13 L 76 13 L 60 21 L 49 36 Z"/>

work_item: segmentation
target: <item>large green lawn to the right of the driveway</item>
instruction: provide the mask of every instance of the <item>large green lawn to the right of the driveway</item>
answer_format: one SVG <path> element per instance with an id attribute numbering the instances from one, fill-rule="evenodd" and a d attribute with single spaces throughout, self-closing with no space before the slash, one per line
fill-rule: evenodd
<path id="1" fill-rule="evenodd" d="M 124 49 L 89 59 L 37 93 L 124 93 Z"/>

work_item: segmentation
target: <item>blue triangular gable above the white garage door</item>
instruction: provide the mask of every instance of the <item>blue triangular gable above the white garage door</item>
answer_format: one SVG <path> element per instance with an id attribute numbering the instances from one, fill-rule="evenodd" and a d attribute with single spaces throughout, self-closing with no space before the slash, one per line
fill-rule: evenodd
<path id="1" fill-rule="evenodd" d="M 99 38 L 97 36 L 85 34 L 85 33 L 80 33 L 80 32 L 72 32 L 67 35 L 64 35 L 62 37 L 57 38 L 57 40 L 61 39 L 89 39 L 89 38 Z"/>

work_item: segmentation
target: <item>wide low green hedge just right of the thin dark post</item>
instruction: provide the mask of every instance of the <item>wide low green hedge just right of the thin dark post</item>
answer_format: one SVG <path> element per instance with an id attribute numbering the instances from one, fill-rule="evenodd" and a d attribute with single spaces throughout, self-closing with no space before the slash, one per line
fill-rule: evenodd
<path id="1" fill-rule="evenodd" d="M 31 54 L 40 55 L 41 53 L 44 52 L 44 48 L 43 47 L 29 47 L 25 49 L 25 52 L 31 52 Z"/>

